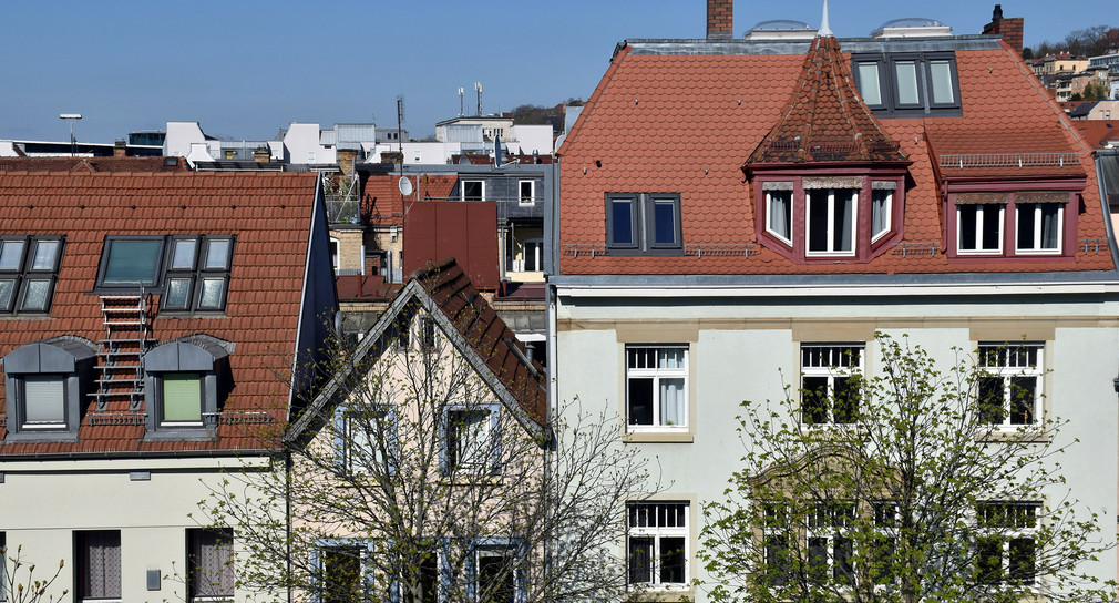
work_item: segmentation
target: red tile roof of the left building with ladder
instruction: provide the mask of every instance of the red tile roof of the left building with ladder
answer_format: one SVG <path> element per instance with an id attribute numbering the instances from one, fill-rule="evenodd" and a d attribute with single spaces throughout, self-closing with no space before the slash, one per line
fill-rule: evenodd
<path id="1" fill-rule="evenodd" d="M 206 333 L 234 342 L 234 387 L 219 411 L 231 417 L 264 411 L 279 430 L 286 420 L 283 375 L 294 354 L 314 190 L 313 173 L 0 173 L 0 235 L 66 237 L 50 314 L 0 319 L 0 356 L 62 335 L 106 339 L 100 296 L 90 294 L 106 235 L 232 234 L 225 313 L 156 314 L 151 337 L 163 342 Z M 126 406 L 111 403 L 107 411 Z M 83 414 L 92 407 L 83 402 Z M 83 417 L 77 442 L 0 442 L 0 455 L 258 449 L 272 445 L 262 440 L 269 427 L 223 422 L 213 441 L 143 441 L 142 425 L 90 425 Z"/>

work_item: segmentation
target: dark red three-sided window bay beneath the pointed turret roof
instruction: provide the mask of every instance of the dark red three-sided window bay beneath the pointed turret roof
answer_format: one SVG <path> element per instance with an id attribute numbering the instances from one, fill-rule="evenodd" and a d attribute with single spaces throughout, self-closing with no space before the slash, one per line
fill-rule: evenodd
<path id="1" fill-rule="evenodd" d="M 793 261 L 867 261 L 900 236 L 902 178 L 896 171 L 759 176 L 756 220 L 765 228 L 758 238 Z"/>

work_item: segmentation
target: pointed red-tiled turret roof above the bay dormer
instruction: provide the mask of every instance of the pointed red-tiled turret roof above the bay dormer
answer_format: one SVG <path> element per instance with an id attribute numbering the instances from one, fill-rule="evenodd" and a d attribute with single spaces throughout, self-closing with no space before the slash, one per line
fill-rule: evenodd
<path id="1" fill-rule="evenodd" d="M 789 104 L 746 164 L 904 160 L 861 98 L 839 44 L 817 37 Z"/>

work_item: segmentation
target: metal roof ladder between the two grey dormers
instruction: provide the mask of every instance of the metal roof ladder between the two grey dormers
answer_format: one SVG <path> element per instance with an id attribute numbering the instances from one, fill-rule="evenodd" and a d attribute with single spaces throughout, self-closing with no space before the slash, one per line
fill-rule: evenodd
<path id="1" fill-rule="evenodd" d="M 149 337 L 149 295 L 102 295 L 101 315 L 105 339 L 97 350 L 100 371 L 93 396 L 97 411 L 110 408 L 111 401 L 126 401 L 129 411 L 143 408 L 143 369 L 140 360 L 154 341 Z"/>

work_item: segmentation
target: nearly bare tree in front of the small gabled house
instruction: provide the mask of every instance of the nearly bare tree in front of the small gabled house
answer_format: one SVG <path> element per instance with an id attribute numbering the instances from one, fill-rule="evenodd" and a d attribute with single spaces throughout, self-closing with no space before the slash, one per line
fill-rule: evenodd
<path id="1" fill-rule="evenodd" d="M 543 375 L 507 387 L 426 310 L 333 351 L 285 470 L 229 474 L 201 502 L 235 528 L 238 583 L 323 602 L 620 600 L 624 501 L 651 487 L 618 418 L 540 413 Z"/>

